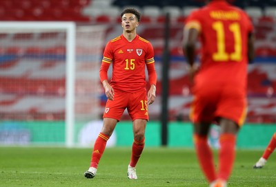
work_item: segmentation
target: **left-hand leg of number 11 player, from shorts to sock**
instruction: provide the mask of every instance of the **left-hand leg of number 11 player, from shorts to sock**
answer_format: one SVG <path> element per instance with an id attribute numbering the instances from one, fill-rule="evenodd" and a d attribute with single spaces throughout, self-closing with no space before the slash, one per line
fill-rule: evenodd
<path id="1" fill-rule="evenodd" d="M 210 125 L 215 118 L 219 93 L 220 90 L 217 90 L 216 87 L 201 84 L 197 91 L 195 91 L 195 97 L 193 98 L 190 110 L 190 119 L 194 123 L 193 137 L 197 159 L 209 183 L 217 179 L 213 151 L 208 144 L 208 133 Z"/>

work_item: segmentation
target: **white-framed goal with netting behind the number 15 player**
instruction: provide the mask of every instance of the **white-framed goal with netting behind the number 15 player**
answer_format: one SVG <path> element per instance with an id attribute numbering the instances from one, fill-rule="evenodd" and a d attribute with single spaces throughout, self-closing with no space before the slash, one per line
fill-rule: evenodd
<path id="1" fill-rule="evenodd" d="M 0 144 L 76 146 L 99 118 L 104 26 L 0 23 Z"/>

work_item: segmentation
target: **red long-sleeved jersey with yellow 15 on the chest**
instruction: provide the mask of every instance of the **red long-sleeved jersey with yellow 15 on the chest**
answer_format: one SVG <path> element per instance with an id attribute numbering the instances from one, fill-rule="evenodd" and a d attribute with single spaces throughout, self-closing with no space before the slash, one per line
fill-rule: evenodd
<path id="1" fill-rule="evenodd" d="M 139 35 L 130 42 L 121 34 L 107 43 L 100 69 L 101 81 L 107 78 L 101 74 L 101 71 L 104 69 L 106 72 L 110 63 L 112 63 L 110 85 L 113 89 L 121 91 L 132 92 L 146 89 L 146 65 L 148 70 L 150 67 L 149 73 L 152 71 L 155 73 L 153 47 L 149 41 Z M 156 84 L 155 81 L 150 84 Z"/>

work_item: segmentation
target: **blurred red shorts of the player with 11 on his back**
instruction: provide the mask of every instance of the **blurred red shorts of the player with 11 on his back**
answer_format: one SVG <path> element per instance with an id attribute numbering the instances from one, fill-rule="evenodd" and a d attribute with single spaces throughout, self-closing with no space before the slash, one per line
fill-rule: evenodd
<path id="1" fill-rule="evenodd" d="M 244 91 L 231 86 L 201 87 L 195 91 L 190 119 L 193 122 L 215 122 L 217 118 L 244 123 L 247 101 Z"/>

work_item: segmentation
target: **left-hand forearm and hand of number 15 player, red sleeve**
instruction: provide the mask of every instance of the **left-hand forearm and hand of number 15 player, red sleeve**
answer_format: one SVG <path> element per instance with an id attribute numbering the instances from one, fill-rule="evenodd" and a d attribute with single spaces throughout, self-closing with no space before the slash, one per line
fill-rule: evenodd
<path id="1" fill-rule="evenodd" d="M 114 100 L 114 90 L 108 83 L 108 69 L 110 66 L 109 61 L 106 62 L 108 59 L 103 57 L 103 61 L 101 61 L 101 68 L 99 69 L 99 77 L 101 79 L 101 83 L 103 84 L 103 88 L 106 94 L 106 97 L 109 100 Z"/>

